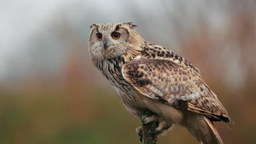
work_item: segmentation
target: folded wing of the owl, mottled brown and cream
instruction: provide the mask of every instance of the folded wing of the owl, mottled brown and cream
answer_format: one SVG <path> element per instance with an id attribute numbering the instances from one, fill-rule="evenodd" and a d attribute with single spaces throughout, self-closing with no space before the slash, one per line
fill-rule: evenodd
<path id="1" fill-rule="evenodd" d="M 177 109 L 201 113 L 211 121 L 230 122 L 216 94 L 203 82 L 199 71 L 166 59 L 133 59 L 122 75 L 140 93 Z"/>

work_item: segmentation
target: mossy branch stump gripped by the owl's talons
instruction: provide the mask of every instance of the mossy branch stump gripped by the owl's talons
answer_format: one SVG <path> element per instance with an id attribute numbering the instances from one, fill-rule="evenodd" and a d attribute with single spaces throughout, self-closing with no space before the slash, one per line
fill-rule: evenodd
<path id="1" fill-rule="evenodd" d="M 142 113 L 142 119 L 145 119 L 147 117 L 153 116 L 154 113 L 151 111 L 143 111 Z M 157 122 L 152 122 L 152 123 L 142 123 L 142 143 L 143 144 L 156 144 L 158 142 L 158 134 L 155 133 L 155 129 L 158 127 Z"/>

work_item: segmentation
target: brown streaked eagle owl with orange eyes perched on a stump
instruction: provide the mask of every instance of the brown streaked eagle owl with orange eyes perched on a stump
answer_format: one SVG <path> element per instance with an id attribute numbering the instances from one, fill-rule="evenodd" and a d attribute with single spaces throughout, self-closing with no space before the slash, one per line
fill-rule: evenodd
<path id="1" fill-rule="evenodd" d="M 173 124 L 187 128 L 201 143 L 223 143 L 212 122 L 230 122 L 217 95 L 199 69 L 165 47 L 149 43 L 127 23 L 96 23 L 89 37 L 92 63 L 118 93 L 127 110 L 141 119 L 143 110 L 155 115 L 162 133 Z M 141 127 L 136 132 L 141 134 Z"/>

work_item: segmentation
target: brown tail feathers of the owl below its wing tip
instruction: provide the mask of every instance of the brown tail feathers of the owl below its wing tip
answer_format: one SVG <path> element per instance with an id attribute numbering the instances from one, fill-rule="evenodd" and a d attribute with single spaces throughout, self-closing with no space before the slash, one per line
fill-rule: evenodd
<path id="1" fill-rule="evenodd" d="M 194 115 L 187 123 L 187 129 L 197 141 L 203 144 L 223 144 L 213 123 L 204 116 Z"/>

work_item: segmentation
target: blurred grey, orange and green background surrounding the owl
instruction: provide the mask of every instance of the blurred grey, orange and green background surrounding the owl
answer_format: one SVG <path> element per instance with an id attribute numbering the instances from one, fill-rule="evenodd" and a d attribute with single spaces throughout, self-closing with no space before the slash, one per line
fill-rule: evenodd
<path id="1" fill-rule="evenodd" d="M 185 57 L 235 125 L 225 143 L 256 142 L 256 1 L 0 1 L 0 143 L 139 143 L 141 122 L 93 67 L 90 26 L 134 22 Z M 197 143 L 175 127 L 159 143 Z"/>

